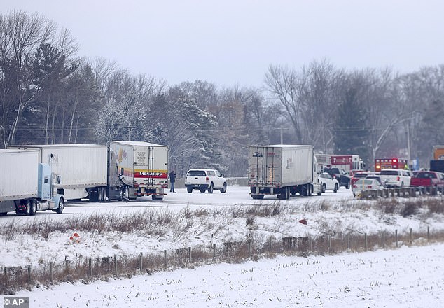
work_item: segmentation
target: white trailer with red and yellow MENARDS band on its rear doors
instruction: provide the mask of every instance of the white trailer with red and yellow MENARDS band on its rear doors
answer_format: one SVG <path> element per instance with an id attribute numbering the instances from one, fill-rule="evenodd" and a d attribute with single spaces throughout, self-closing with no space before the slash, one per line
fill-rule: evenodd
<path id="1" fill-rule="evenodd" d="M 111 141 L 117 155 L 118 172 L 129 199 L 151 195 L 163 200 L 168 188 L 168 148 L 144 141 Z"/>

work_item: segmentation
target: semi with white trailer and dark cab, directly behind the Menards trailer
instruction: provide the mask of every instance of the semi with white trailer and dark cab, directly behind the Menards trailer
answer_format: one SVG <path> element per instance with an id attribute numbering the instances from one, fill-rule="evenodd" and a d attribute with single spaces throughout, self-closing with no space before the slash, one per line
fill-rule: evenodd
<path id="1" fill-rule="evenodd" d="M 39 163 L 50 166 L 53 187 L 64 200 L 89 198 L 107 202 L 121 197 L 122 182 L 116 155 L 102 144 L 46 144 L 8 146 L 18 150 L 35 150 Z"/>

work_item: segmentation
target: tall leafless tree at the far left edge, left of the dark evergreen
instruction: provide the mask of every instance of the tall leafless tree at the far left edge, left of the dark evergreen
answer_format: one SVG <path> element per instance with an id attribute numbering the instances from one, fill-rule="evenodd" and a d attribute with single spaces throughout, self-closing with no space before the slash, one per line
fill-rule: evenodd
<path id="1" fill-rule="evenodd" d="M 34 99 L 39 85 L 34 85 L 30 69 L 34 50 L 55 34 L 55 24 L 41 15 L 13 11 L 0 16 L 0 104 L 1 144 L 14 144 L 20 118 Z"/>

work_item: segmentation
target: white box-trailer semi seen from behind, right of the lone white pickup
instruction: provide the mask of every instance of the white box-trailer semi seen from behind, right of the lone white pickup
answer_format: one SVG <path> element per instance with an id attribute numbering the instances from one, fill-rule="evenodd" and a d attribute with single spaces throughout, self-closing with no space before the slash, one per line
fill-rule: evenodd
<path id="1" fill-rule="evenodd" d="M 310 145 L 276 144 L 249 147 L 248 183 L 253 199 L 277 195 L 321 195 L 317 164 Z"/>

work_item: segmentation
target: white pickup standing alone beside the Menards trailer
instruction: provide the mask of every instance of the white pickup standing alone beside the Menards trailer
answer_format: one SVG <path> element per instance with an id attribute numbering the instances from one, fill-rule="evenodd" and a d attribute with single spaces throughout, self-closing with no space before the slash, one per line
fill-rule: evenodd
<path id="1" fill-rule="evenodd" d="M 215 169 L 190 169 L 186 173 L 185 187 L 188 193 L 193 189 L 200 190 L 200 193 L 213 193 L 213 190 L 221 190 L 221 193 L 227 191 L 227 182 L 221 172 Z"/>

